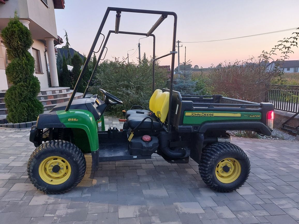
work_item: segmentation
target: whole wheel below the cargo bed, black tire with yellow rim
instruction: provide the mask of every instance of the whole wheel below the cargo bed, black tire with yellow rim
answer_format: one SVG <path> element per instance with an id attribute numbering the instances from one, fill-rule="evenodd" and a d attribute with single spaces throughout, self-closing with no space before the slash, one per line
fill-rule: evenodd
<path id="1" fill-rule="evenodd" d="M 211 189 L 231 192 L 241 187 L 247 180 L 250 162 L 237 145 L 217 142 L 203 148 L 199 173 Z"/>

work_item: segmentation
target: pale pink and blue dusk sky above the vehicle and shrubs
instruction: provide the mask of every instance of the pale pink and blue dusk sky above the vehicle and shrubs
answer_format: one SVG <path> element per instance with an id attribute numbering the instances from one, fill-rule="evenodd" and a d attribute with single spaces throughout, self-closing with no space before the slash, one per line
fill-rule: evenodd
<path id="1" fill-rule="evenodd" d="M 100 0 L 65 0 L 64 10 L 55 10 L 57 34 L 64 36 L 68 32 L 72 48 L 81 54 L 88 54 L 95 34 L 103 19 L 107 7 L 123 7 L 147 10 L 173 11 L 178 15 L 177 38 L 182 42 L 209 41 L 267 33 L 277 30 L 299 27 L 298 0 L 251 0 L 251 1 L 100 1 Z M 158 15 L 137 13 L 121 13 L 120 31 L 147 33 L 159 18 Z M 115 12 L 110 12 L 103 34 L 115 28 Z M 223 61 L 245 60 L 251 56 L 259 56 L 262 50 L 270 51 L 277 41 L 289 37 L 295 30 L 205 43 L 183 43 L 180 48 L 180 62 L 186 59 L 199 67 L 217 65 Z M 168 16 L 154 31 L 156 36 L 156 55 L 169 53 L 172 46 L 173 16 Z M 126 57 L 127 51 L 133 54 L 140 36 L 111 34 L 105 59 Z M 101 39 L 99 40 L 101 42 Z M 152 38 L 140 40 L 141 54 L 152 56 Z M 100 46 L 100 43 L 96 47 Z M 294 48 L 290 60 L 299 59 L 299 49 Z M 137 62 L 138 51 L 129 56 L 129 61 Z M 170 65 L 171 57 L 160 60 L 160 65 Z M 177 66 L 177 55 L 175 66 Z"/>

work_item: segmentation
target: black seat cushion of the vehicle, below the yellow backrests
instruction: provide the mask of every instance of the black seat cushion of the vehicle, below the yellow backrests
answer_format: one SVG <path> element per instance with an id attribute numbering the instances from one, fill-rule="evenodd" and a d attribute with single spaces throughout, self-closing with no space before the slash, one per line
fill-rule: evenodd
<path id="1" fill-rule="evenodd" d="M 148 116 L 148 115 L 147 115 Z M 137 125 L 140 124 L 140 122 L 145 118 L 146 116 L 128 116 L 127 123 L 128 126 L 132 129 L 136 128 Z M 153 130 L 158 130 L 162 127 L 162 123 L 158 122 L 155 117 L 152 117 L 153 120 Z M 152 129 L 152 121 L 151 119 L 146 119 L 144 122 L 141 123 L 141 125 L 138 126 L 138 129 Z"/>

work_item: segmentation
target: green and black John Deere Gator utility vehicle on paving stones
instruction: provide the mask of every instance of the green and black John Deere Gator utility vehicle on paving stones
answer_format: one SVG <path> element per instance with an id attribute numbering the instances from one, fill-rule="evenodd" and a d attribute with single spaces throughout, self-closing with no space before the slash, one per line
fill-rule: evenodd
<path id="1" fill-rule="evenodd" d="M 110 11 L 116 12 L 115 30 L 110 30 L 101 44 L 100 56 L 82 99 L 74 96 L 94 52 Z M 161 15 L 148 33 L 119 31 L 121 12 Z M 152 32 L 167 16 L 174 17 L 173 48 L 169 54 L 155 57 Z M 271 135 L 273 104 L 253 103 L 221 95 L 182 95 L 173 90 L 176 47 L 176 13 L 108 7 L 78 78 L 69 102 L 60 103 L 50 113 L 40 114 L 30 131 L 30 141 L 37 147 L 28 161 L 28 176 L 36 188 L 59 194 L 74 188 L 86 172 L 84 153 L 91 153 L 92 168 L 103 161 L 150 159 L 153 153 L 170 163 L 199 164 L 202 180 L 213 190 L 230 192 L 244 184 L 250 172 L 246 154 L 230 143 L 227 130 L 250 130 Z M 153 63 L 150 111 L 132 106 L 123 111 L 123 129 L 105 131 L 103 113 L 109 105 L 122 104 L 116 96 L 99 89 L 98 95 L 85 97 L 111 33 L 153 37 L 153 61 L 172 56 L 170 89 L 155 89 Z M 104 36 L 104 35 L 103 35 Z M 106 51 L 107 52 L 107 51 Z M 106 53 L 105 53 L 106 55 Z M 105 57 L 105 56 L 104 56 Z M 126 109 L 126 108 L 124 108 Z M 44 143 L 43 143 L 44 142 Z"/>

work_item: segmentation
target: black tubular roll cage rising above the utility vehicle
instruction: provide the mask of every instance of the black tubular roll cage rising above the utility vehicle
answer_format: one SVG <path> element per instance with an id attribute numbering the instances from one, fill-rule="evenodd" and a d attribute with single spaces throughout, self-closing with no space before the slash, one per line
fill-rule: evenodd
<path id="1" fill-rule="evenodd" d="M 102 34 L 102 30 L 103 30 L 104 24 L 105 24 L 105 22 L 106 22 L 106 19 L 107 19 L 108 15 L 109 15 L 109 12 L 110 12 L 110 11 L 115 11 L 115 12 L 116 12 L 116 18 L 115 18 L 115 30 L 109 30 L 108 35 L 107 35 L 107 37 L 106 37 L 106 39 L 105 39 L 105 36 Z M 125 32 L 125 31 L 119 31 L 120 16 L 121 16 L 120 14 L 121 14 L 122 12 L 158 14 L 158 15 L 161 15 L 161 16 L 160 16 L 160 18 L 157 20 L 157 22 L 155 22 L 155 24 L 151 27 L 151 29 L 150 29 L 147 33 Z M 152 34 L 152 33 L 153 33 L 154 30 L 155 30 L 155 29 L 156 29 L 156 28 L 163 22 L 163 20 L 167 18 L 167 16 L 173 16 L 173 17 L 174 17 L 172 51 L 171 51 L 170 53 L 164 55 L 164 56 L 155 58 L 155 35 Z M 97 34 L 96 34 L 96 36 L 95 36 L 95 38 L 94 38 L 94 41 L 93 41 L 93 43 L 92 43 L 92 45 L 91 45 L 91 48 L 90 48 L 90 50 L 89 50 L 89 53 L 88 53 L 88 55 L 87 55 L 87 57 L 86 57 L 86 61 L 85 61 L 84 65 L 83 65 L 83 68 L 82 68 L 81 73 L 80 73 L 80 75 L 79 75 L 79 77 L 78 77 L 77 83 L 76 83 L 76 85 L 75 85 L 75 87 L 74 87 L 74 91 L 73 91 L 73 93 L 72 93 L 72 95 L 71 95 L 71 97 L 70 97 L 70 99 L 69 99 L 69 101 L 68 101 L 68 105 L 67 105 L 66 108 L 65 108 L 65 111 L 68 111 L 68 110 L 69 110 L 69 108 L 70 108 L 70 106 L 71 106 L 71 103 L 73 102 L 73 99 L 74 99 L 75 94 L 76 94 L 76 92 L 77 92 L 77 89 L 78 89 L 78 87 L 79 87 L 80 81 L 81 81 L 81 79 L 82 79 L 82 77 L 83 77 L 83 74 L 85 73 L 85 70 L 86 70 L 86 68 L 87 68 L 87 66 L 88 66 L 88 63 L 89 63 L 90 59 L 91 59 L 92 53 L 97 53 L 97 52 L 99 52 L 99 51 L 95 52 L 95 51 L 94 51 L 94 48 L 95 48 L 95 46 L 97 45 L 97 42 L 98 42 L 98 39 L 99 39 L 100 35 L 103 35 L 103 37 L 104 37 L 104 38 L 103 38 L 103 41 L 102 41 L 102 43 L 101 43 L 100 49 L 101 49 L 101 47 L 102 47 L 102 45 L 103 45 L 104 39 L 105 39 L 105 42 L 104 42 L 104 45 L 103 45 L 102 50 L 101 50 L 101 52 L 100 52 L 100 55 L 99 55 L 99 57 L 98 57 L 98 59 L 97 59 L 97 64 L 95 65 L 94 70 L 93 70 L 93 72 L 92 72 L 92 74 L 91 74 L 91 77 L 90 77 L 90 79 L 89 79 L 89 82 L 88 82 L 88 85 L 87 85 L 87 87 L 86 87 L 86 89 L 85 89 L 85 92 L 84 92 L 84 94 L 83 94 L 83 97 L 86 96 L 86 93 L 87 93 L 88 88 L 89 88 L 89 86 L 90 86 L 90 84 L 91 84 L 91 81 L 92 81 L 92 79 L 93 79 L 94 73 L 95 73 L 95 71 L 97 70 L 97 67 L 98 67 L 98 64 L 99 64 L 100 60 L 103 60 L 103 59 L 105 58 L 105 56 L 106 56 L 106 53 L 107 53 L 107 50 L 108 50 L 107 47 L 106 47 L 106 44 L 107 44 L 107 42 L 108 42 L 108 39 L 109 39 L 109 36 L 110 36 L 111 33 L 116 33 L 116 34 L 118 34 L 118 33 L 122 33 L 122 34 L 131 34 L 131 35 L 152 36 L 152 37 L 153 37 L 152 91 L 155 90 L 155 61 L 158 60 L 158 59 L 161 59 L 161 58 L 163 58 L 163 57 L 172 55 L 172 58 L 171 58 L 171 69 L 170 69 L 169 110 L 168 110 L 168 119 L 167 119 L 167 131 L 170 131 L 170 128 L 171 128 L 171 126 L 170 126 L 170 120 L 171 120 L 171 119 L 170 119 L 170 118 L 171 118 L 171 106 L 172 106 L 172 95 L 173 95 L 174 60 L 175 60 L 175 54 L 176 54 L 176 26 L 177 26 L 177 15 L 176 15 L 176 13 L 174 13 L 174 12 L 108 7 L 107 10 L 106 10 L 105 15 L 104 15 L 104 17 L 103 17 L 103 20 L 102 20 L 102 22 L 101 22 L 101 24 L 100 24 L 99 30 L 97 31 Z M 103 55 L 103 52 L 104 52 L 105 48 L 106 48 L 105 56 L 104 56 L 103 59 L 101 59 L 101 57 L 102 57 L 102 55 Z"/>

